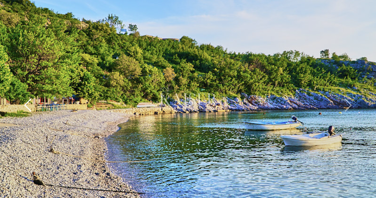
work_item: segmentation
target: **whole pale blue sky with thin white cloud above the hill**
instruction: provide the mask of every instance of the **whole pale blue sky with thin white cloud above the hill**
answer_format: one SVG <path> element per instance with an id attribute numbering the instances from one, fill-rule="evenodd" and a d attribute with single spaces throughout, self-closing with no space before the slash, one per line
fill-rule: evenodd
<path id="1" fill-rule="evenodd" d="M 114 14 L 140 35 L 188 36 L 227 52 L 297 50 L 376 61 L 374 0 L 35 0 L 37 7 L 97 21 Z"/>

